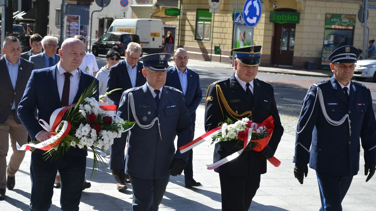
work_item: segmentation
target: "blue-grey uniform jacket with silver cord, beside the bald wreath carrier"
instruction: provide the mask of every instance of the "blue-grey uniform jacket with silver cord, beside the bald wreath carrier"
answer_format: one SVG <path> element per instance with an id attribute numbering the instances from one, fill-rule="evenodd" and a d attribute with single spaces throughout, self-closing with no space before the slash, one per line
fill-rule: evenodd
<path id="1" fill-rule="evenodd" d="M 158 121 L 149 129 L 141 128 L 136 124 L 130 130 L 125 173 L 140 179 L 166 177 L 170 175 L 169 167 L 173 158 L 185 162 L 188 160 L 189 152 L 180 154 L 179 150 L 175 150 L 175 134 L 177 134 L 178 148 L 193 139 L 192 121 L 183 93 L 173 87 L 163 86 L 157 108 L 147 84 L 126 90 L 121 97 L 116 116 L 130 122 L 135 122 L 135 118 L 130 106 L 128 116 L 129 92 L 133 94 L 136 117 L 142 125 L 150 124 L 158 116 L 162 139 L 158 131 Z M 126 134 L 114 140 L 111 146 L 111 169 L 123 169 L 126 140 Z"/>

